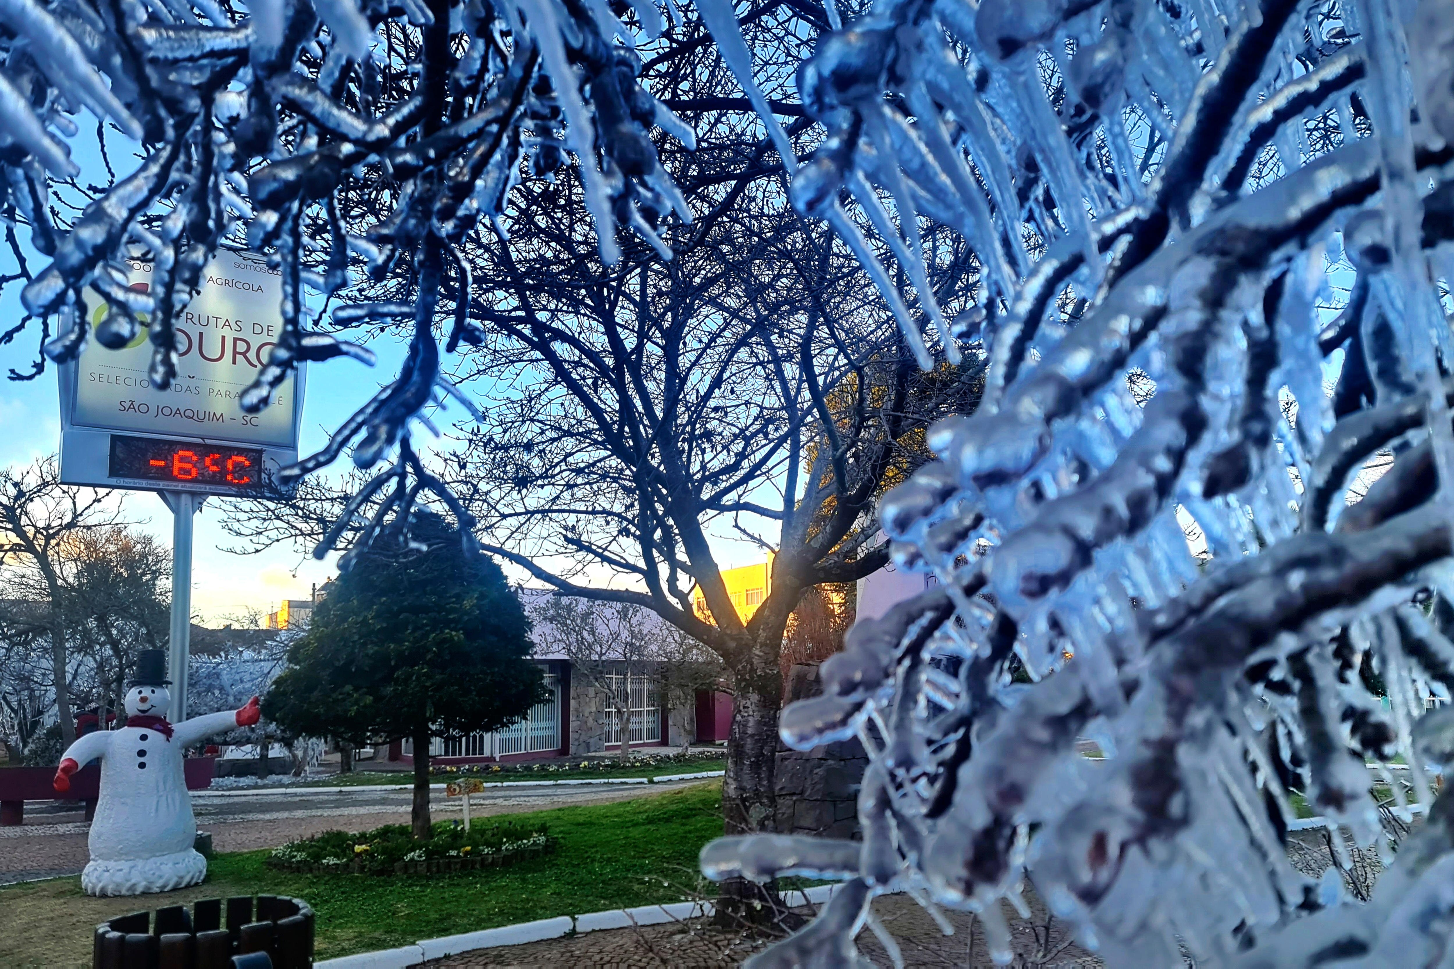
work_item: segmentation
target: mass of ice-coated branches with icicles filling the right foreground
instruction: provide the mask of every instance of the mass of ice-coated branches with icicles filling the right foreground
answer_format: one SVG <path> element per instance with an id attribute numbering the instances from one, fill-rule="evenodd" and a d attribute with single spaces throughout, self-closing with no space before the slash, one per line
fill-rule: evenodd
<path id="1" fill-rule="evenodd" d="M 954 336 L 992 352 L 979 411 L 931 429 L 938 461 L 878 507 L 893 559 L 941 585 L 859 622 L 823 696 L 784 710 L 790 745 L 869 751 L 856 864 L 838 843 L 704 851 L 714 877 L 848 888 L 755 965 L 858 959 L 869 899 L 904 888 L 979 912 L 1009 960 L 999 899 L 1027 879 L 1115 966 L 1450 952 L 1447 799 L 1362 901 L 1298 875 L 1285 838 L 1301 795 L 1390 851 L 1365 761 L 1410 764 L 1402 811 L 1454 751 L 1423 703 L 1454 668 L 1432 311 L 1454 17 L 1218 9 L 1229 29 L 1204 3 L 880 4 L 800 71 L 824 128 L 800 211 L 843 231 L 848 193 L 893 200 L 897 225 L 887 203 L 869 221 L 920 301 L 923 224 L 963 235 L 986 272 Z"/>

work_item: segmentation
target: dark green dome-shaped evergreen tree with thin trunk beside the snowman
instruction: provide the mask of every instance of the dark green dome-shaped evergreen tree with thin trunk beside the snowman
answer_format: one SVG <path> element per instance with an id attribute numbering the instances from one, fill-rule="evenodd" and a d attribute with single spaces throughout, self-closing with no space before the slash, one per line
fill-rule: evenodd
<path id="1" fill-rule="evenodd" d="M 487 555 L 427 511 L 361 551 L 318 603 L 265 713 L 295 734 L 414 741 L 414 837 L 429 837 L 429 738 L 493 731 L 542 697 L 531 623 Z"/>

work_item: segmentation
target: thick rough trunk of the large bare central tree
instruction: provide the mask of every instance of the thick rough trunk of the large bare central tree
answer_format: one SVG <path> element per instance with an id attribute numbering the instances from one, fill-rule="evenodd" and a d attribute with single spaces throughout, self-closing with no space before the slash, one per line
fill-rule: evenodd
<path id="1" fill-rule="evenodd" d="M 727 771 L 723 777 L 723 822 L 726 834 L 774 832 L 778 830 L 776 763 L 778 713 L 782 706 L 782 673 L 776 649 L 755 644 L 750 665 L 733 677 L 731 732 L 727 737 Z M 791 923 L 776 885 L 728 879 L 717 898 L 718 925 Z M 791 927 L 791 925 L 790 925 Z"/>

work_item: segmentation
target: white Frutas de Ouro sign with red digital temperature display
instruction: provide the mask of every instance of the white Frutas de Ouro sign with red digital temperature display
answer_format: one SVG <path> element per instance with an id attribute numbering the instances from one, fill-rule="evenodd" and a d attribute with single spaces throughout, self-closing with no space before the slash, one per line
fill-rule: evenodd
<path id="1" fill-rule="evenodd" d="M 128 282 L 145 292 L 150 263 L 129 261 Z M 61 478 L 67 484 L 238 494 L 297 461 L 302 368 L 259 414 L 244 414 L 252 385 L 282 333 L 282 280 L 249 253 L 218 253 L 196 296 L 177 314 L 177 375 L 151 385 L 147 320 L 125 347 L 89 340 L 61 368 Z M 109 307 L 95 289 L 84 312 L 95 327 Z"/>

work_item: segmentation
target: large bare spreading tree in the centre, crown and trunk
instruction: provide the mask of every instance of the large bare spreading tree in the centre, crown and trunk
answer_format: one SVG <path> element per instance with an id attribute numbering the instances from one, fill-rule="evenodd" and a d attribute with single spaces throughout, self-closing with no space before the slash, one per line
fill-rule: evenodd
<path id="1" fill-rule="evenodd" d="M 872 542 L 877 495 L 926 459 L 926 427 L 973 410 L 981 385 L 979 357 L 920 372 L 846 254 L 765 208 L 721 215 L 742 253 L 724 240 L 608 276 L 592 276 L 579 248 L 516 259 L 471 362 L 477 379 L 518 392 L 436 469 L 491 554 L 564 594 L 650 609 L 720 657 L 736 697 L 733 832 L 771 830 L 776 814 L 790 615 L 806 590 L 887 561 Z M 227 527 L 254 549 L 298 538 L 326 548 L 340 532 L 349 543 L 381 504 L 350 520 L 348 503 L 346 488 L 305 482 L 289 504 L 240 506 Z M 776 552 L 747 620 L 714 529 Z M 622 581 L 583 584 L 587 567 Z M 698 587 L 707 615 L 692 604 Z M 774 911 L 742 891 L 752 911 Z"/>

